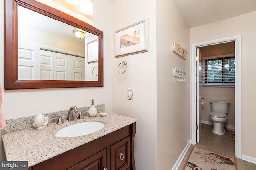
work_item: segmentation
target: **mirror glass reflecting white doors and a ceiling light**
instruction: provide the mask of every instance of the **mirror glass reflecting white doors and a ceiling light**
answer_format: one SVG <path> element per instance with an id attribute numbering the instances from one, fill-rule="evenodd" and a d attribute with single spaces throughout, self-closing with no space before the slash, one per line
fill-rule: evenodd
<path id="1" fill-rule="evenodd" d="M 98 81 L 98 36 L 18 6 L 18 79 Z"/>

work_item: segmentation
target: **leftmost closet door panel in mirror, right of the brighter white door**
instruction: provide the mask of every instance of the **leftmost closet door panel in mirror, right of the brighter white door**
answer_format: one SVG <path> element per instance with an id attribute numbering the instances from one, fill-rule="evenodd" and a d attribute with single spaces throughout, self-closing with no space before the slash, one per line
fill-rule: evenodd
<path id="1" fill-rule="evenodd" d="M 40 80 L 54 80 L 53 52 L 40 50 Z"/>

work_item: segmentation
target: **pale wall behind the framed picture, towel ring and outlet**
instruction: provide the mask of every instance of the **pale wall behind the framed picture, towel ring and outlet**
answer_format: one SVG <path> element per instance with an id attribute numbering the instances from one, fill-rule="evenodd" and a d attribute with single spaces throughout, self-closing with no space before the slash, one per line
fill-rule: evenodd
<path id="1" fill-rule="evenodd" d="M 114 32 L 148 18 L 149 51 L 114 57 Z M 118 0 L 112 4 L 112 111 L 138 119 L 135 136 L 136 169 L 156 169 L 156 0 Z M 117 67 L 127 61 L 127 70 Z M 127 100 L 133 88 L 134 100 Z"/>

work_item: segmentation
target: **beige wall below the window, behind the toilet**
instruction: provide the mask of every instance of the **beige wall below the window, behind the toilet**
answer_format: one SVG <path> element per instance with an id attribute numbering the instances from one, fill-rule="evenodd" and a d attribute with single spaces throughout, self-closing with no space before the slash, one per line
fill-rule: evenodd
<path id="1" fill-rule="evenodd" d="M 210 101 L 229 101 L 228 122 L 225 125 L 235 126 L 235 88 L 234 87 L 202 87 L 204 104 L 202 104 L 202 121 L 212 121 L 209 118 L 211 112 Z"/>

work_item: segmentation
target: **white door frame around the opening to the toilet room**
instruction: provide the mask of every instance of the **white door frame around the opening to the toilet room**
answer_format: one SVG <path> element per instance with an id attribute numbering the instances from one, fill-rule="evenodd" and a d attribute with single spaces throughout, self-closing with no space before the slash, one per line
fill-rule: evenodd
<path id="1" fill-rule="evenodd" d="M 200 43 L 191 44 L 191 144 L 196 144 L 196 47 L 214 45 L 235 41 L 235 59 L 236 59 L 236 82 L 235 82 L 235 154 L 237 158 L 242 158 L 242 97 L 241 97 L 241 35 L 226 37 L 222 39 L 214 39 Z"/>

